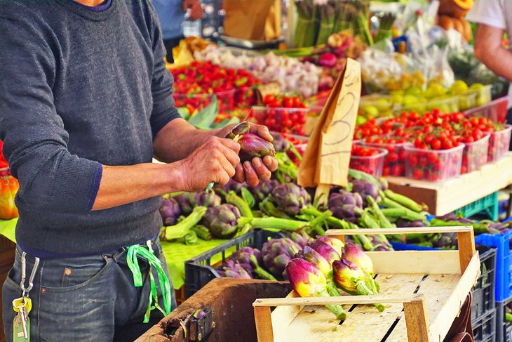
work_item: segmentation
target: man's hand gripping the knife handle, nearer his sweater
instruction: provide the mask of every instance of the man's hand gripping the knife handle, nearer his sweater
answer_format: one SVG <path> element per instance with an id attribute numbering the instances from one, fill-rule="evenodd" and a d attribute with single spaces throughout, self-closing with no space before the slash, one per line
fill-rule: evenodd
<path id="1" fill-rule="evenodd" d="M 228 183 L 240 164 L 239 150 L 240 145 L 231 139 L 208 138 L 189 157 L 177 162 L 182 175 L 182 188 L 185 191 L 198 191 L 204 190 L 211 182 L 221 185 Z"/>

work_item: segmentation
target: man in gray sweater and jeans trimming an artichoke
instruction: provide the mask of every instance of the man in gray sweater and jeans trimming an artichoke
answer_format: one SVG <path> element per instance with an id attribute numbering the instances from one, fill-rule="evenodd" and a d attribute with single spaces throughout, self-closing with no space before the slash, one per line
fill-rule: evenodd
<path id="1" fill-rule="evenodd" d="M 16 302 L 32 303 L 32 341 L 133 341 L 175 307 L 160 195 L 254 186 L 277 168 L 272 157 L 241 164 L 229 127 L 180 118 L 165 54 L 148 0 L 0 0 L 0 139 L 20 181 L 8 341 L 23 335 L 12 302 L 32 271 Z"/>

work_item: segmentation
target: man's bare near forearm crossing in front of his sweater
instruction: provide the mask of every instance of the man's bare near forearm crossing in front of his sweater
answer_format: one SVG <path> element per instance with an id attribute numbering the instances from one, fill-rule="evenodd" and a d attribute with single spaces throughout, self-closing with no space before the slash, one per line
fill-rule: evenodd
<path id="1" fill-rule="evenodd" d="M 94 210 L 109 209 L 142 199 L 184 190 L 177 163 L 103 166 Z"/>

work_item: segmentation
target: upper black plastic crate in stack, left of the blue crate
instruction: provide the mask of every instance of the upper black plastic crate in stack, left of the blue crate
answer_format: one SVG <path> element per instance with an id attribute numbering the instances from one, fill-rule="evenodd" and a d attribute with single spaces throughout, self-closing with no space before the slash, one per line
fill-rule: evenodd
<path id="1" fill-rule="evenodd" d="M 480 320 L 490 310 L 494 310 L 494 284 L 496 278 L 496 249 L 490 246 L 477 246 L 480 253 L 480 277 L 473 287 L 471 322 Z"/>

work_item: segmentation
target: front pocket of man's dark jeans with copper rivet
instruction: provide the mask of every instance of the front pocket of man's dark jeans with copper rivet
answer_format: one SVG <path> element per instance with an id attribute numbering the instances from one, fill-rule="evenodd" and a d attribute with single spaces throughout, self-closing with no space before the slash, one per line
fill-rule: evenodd
<path id="1" fill-rule="evenodd" d="M 44 267 L 41 287 L 48 292 L 66 292 L 94 284 L 112 265 L 112 258 L 104 258 L 102 264 L 65 265 Z"/>

